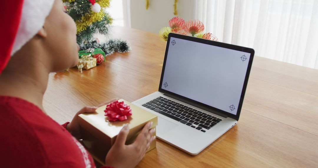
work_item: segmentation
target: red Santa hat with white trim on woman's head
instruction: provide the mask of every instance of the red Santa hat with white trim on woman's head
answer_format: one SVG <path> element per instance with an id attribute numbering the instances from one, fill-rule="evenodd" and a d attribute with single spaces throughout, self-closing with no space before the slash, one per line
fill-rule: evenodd
<path id="1" fill-rule="evenodd" d="M 0 74 L 10 57 L 43 27 L 54 0 L 5 0 L 0 5 Z"/>

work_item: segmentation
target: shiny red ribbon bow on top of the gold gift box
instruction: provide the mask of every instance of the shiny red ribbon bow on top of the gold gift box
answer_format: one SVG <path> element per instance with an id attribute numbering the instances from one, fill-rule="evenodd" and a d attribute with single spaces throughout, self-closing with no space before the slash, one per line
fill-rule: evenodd
<path id="1" fill-rule="evenodd" d="M 124 121 L 127 120 L 128 115 L 132 115 L 130 106 L 125 104 L 124 101 L 119 102 L 118 100 L 107 104 L 104 111 L 109 121 Z"/>

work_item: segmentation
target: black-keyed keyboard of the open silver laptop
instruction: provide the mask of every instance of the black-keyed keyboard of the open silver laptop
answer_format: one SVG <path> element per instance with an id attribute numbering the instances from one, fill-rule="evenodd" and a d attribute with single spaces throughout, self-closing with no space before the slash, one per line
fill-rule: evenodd
<path id="1" fill-rule="evenodd" d="M 161 96 L 142 106 L 202 132 L 206 132 L 205 129 L 210 129 L 222 121 L 222 119 L 218 117 L 203 113 Z"/>

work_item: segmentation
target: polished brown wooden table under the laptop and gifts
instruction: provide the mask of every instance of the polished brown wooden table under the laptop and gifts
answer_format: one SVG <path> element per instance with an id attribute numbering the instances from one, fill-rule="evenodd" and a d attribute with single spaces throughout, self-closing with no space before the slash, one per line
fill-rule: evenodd
<path id="1" fill-rule="evenodd" d="M 113 31 L 131 52 L 82 73 L 50 74 L 44 107 L 57 122 L 71 121 L 85 105 L 132 102 L 158 90 L 166 42 L 140 30 Z M 317 128 L 318 70 L 255 57 L 236 126 L 197 156 L 157 139 L 137 167 L 318 167 Z"/>

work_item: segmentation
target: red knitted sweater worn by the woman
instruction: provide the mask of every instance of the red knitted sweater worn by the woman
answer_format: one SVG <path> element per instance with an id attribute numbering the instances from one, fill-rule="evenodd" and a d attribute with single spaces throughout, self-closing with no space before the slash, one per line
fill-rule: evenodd
<path id="1" fill-rule="evenodd" d="M 0 96 L 1 167 L 94 168 L 85 148 L 34 104 Z M 104 168 L 106 168 L 105 166 Z"/>

